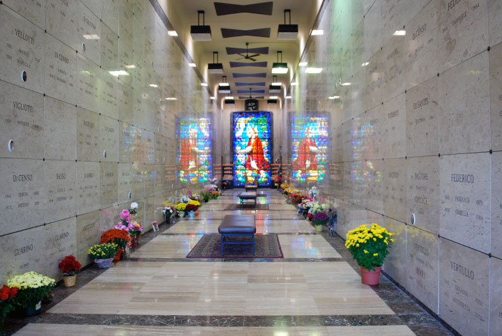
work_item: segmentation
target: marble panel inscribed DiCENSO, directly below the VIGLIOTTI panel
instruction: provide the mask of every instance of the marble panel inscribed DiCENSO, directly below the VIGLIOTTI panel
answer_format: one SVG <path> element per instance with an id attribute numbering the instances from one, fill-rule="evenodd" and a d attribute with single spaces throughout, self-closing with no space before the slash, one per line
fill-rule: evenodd
<path id="1" fill-rule="evenodd" d="M 44 224 L 43 161 L 0 160 L 0 236 Z"/>

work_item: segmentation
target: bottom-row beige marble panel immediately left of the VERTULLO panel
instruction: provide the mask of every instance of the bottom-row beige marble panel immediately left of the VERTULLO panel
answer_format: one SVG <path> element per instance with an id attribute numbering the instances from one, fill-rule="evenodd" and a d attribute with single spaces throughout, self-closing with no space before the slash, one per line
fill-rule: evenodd
<path id="1" fill-rule="evenodd" d="M 412 225 L 406 227 L 407 276 L 404 285 L 413 296 L 438 312 L 438 237 Z"/>

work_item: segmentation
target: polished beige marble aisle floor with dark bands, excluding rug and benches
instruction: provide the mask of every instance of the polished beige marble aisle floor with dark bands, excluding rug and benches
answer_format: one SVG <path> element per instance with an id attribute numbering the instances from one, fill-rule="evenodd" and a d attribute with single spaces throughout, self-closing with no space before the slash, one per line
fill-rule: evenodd
<path id="1" fill-rule="evenodd" d="M 15 335 L 451 335 L 383 275 L 361 284 L 343 240 L 315 233 L 277 191 L 258 199 L 268 211 L 224 211 L 240 192 L 146 234 L 113 268 L 84 270 Z M 229 213 L 254 214 L 284 259 L 186 259 Z"/>

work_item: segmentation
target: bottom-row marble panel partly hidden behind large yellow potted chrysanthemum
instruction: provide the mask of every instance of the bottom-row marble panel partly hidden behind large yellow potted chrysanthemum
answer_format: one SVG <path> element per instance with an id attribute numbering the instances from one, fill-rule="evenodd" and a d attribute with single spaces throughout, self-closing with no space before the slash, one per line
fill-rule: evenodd
<path id="1" fill-rule="evenodd" d="M 383 270 L 400 284 L 406 284 L 406 225 L 385 217 L 385 222 L 377 222 L 393 234 L 394 243 L 383 263 Z"/>

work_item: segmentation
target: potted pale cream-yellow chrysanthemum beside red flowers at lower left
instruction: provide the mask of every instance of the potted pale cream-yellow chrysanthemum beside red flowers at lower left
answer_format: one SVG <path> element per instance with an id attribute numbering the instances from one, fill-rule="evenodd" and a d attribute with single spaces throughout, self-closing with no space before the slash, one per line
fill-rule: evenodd
<path id="1" fill-rule="evenodd" d="M 47 298 L 56 281 L 45 275 L 30 271 L 22 275 L 17 275 L 8 280 L 7 285 L 11 289 L 17 287 L 15 303 L 24 309 L 26 316 L 33 316 L 40 313 L 42 300 Z"/>

